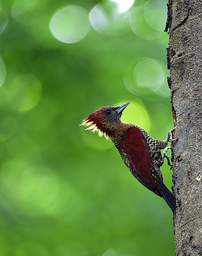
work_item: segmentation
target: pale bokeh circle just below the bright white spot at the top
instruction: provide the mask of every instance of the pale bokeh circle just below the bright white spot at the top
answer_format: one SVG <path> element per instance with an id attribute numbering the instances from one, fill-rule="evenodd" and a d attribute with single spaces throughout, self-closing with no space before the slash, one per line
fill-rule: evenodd
<path id="1" fill-rule="evenodd" d="M 104 35 L 122 35 L 129 31 L 129 13 L 119 13 L 116 3 L 97 4 L 89 13 L 92 27 Z"/>

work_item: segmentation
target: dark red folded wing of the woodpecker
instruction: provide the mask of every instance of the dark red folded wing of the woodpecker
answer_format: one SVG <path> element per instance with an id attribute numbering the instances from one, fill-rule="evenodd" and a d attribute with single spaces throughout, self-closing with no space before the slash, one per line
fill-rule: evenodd
<path id="1" fill-rule="evenodd" d="M 136 179 L 138 179 L 137 176 L 140 176 L 138 180 L 147 188 L 148 184 L 155 185 L 152 177 L 152 158 L 150 156 L 149 146 L 140 129 L 137 127 L 128 129 L 124 135 L 122 147 L 133 166 L 133 168 L 129 169 L 133 169 L 131 172 L 136 173 L 133 173 Z"/>

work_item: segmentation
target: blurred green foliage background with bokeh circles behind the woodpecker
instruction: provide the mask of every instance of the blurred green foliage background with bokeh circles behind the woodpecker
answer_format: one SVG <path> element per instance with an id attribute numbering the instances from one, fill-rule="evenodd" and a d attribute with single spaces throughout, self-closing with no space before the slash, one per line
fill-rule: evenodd
<path id="1" fill-rule="evenodd" d="M 133 2 L 1 1 L 1 255 L 174 255 L 166 203 L 79 126 L 131 101 L 123 121 L 173 127 L 166 1 Z"/>

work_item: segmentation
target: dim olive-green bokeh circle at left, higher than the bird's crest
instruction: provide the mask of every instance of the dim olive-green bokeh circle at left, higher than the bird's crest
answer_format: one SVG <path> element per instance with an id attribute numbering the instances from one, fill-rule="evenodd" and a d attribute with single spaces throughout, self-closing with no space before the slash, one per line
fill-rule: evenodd
<path id="1" fill-rule="evenodd" d="M 18 76 L 8 87 L 8 97 L 13 109 L 29 111 L 41 98 L 41 82 L 31 74 Z"/>

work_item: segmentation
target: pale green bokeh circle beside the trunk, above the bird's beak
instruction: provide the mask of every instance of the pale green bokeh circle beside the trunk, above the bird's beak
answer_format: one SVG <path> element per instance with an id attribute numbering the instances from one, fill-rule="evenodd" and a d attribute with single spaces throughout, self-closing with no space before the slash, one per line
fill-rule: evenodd
<path id="1" fill-rule="evenodd" d="M 164 82 L 164 72 L 158 61 L 146 59 L 140 61 L 134 68 L 134 79 L 137 86 L 157 90 Z"/>

